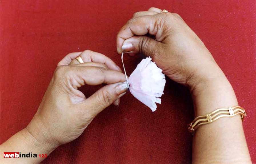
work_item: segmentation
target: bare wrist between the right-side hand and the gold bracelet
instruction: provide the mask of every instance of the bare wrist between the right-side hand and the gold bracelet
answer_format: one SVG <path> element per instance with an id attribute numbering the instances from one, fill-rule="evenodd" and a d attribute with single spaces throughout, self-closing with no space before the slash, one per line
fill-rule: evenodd
<path id="1" fill-rule="evenodd" d="M 197 83 L 190 91 L 195 117 L 208 114 L 217 108 L 238 105 L 235 92 L 224 74 Z"/>

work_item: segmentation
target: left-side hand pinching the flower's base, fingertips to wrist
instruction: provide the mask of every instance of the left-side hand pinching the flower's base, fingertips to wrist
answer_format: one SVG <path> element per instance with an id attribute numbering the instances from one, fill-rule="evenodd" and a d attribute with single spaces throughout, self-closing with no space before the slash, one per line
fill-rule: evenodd
<path id="1" fill-rule="evenodd" d="M 79 54 L 82 64 L 74 59 Z M 125 75 L 107 56 L 89 50 L 68 54 L 59 62 L 27 130 L 52 149 L 73 141 L 99 112 L 125 94 L 127 84 L 122 82 Z M 108 85 L 89 98 L 78 90 L 102 83 Z"/>

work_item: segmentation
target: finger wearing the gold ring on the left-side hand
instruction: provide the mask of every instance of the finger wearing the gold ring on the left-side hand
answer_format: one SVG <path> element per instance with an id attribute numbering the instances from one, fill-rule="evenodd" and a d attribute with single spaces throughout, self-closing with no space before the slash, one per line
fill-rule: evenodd
<path id="1" fill-rule="evenodd" d="M 78 55 L 77 55 L 78 56 Z M 109 69 L 121 71 L 121 68 L 115 64 L 113 60 L 111 60 L 109 57 L 98 53 L 94 52 L 91 50 L 85 50 L 80 54 L 80 57 L 84 62 L 98 62 L 98 63 L 103 63 L 105 64 Z M 72 62 L 70 63 L 71 65 L 73 64 L 79 64 L 79 62 L 74 58 Z"/>

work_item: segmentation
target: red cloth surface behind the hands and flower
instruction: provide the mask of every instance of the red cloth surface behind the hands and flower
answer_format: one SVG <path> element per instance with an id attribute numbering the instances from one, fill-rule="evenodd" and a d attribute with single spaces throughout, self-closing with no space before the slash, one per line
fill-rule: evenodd
<path id="1" fill-rule="evenodd" d="M 116 35 L 136 11 L 179 13 L 202 39 L 231 82 L 247 117 L 243 123 L 256 163 L 255 1 L 9 1 L 0 2 L 0 143 L 36 113 L 57 63 L 86 49 L 120 67 Z M 141 60 L 125 56 L 128 74 Z M 97 87 L 83 87 L 86 96 Z M 169 79 L 157 111 L 131 94 L 101 112 L 75 141 L 42 163 L 191 163 L 193 120 L 189 90 Z M 237 150 L 239 151 L 239 150 Z"/>

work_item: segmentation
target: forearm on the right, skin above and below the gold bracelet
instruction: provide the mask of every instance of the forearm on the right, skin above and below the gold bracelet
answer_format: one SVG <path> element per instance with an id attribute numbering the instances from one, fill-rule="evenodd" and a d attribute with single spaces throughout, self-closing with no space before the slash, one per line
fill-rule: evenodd
<path id="1" fill-rule="evenodd" d="M 225 78 L 201 83 L 192 91 L 195 117 L 218 108 L 237 106 L 237 99 Z M 220 118 L 202 125 L 193 136 L 192 163 L 251 163 L 241 116 Z"/>

